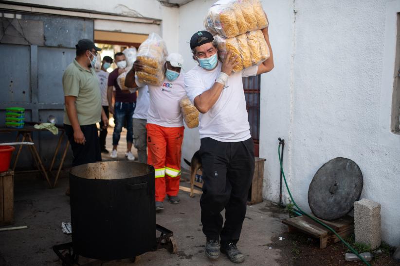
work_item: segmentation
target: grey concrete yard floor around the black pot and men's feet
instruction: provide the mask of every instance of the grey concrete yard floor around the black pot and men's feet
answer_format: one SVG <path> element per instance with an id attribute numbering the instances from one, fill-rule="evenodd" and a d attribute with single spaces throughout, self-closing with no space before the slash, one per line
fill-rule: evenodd
<path id="1" fill-rule="evenodd" d="M 109 129 L 107 146 L 111 150 L 112 129 Z M 121 136 L 119 160 L 125 160 L 125 136 Z M 136 150 L 133 150 L 136 156 Z M 103 155 L 105 160 L 109 156 Z M 164 211 L 157 214 L 157 223 L 174 232 L 178 242 L 177 254 L 165 249 L 146 252 L 132 263 L 130 259 L 98 261 L 81 257 L 85 266 L 225 266 L 232 264 L 225 255 L 210 261 L 204 255 L 205 237 L 201 232 L 200 194 L 189 197 L 188 172 L 182 173 L 181 204 L 164 203 Z M 48 189 L 37 174 L 15 176 L 15 220 L 13 226 L 27 225 L 28 229 L 0 232 L 0 266 L 61 266 L 52 250 L 53 245 L 71 241 L 71 235 L 62 233 L 61 222 L 71 221 L 69 198 L 65 196 L 68 169 L 62 174 L 57 187 Z M 248 206 L 243 223 L 239 249 L 245 254 L 243 266 L 355 266 L 360 261 L 345 262 L 347 248 L 339 243 L 320 249 L 318 240 L 302 233 L 289 234 L 281 220 L 288 212 L 272 202 L 264 201 Z M 279 240 L 282 237 L 282 240 Z M 371 265 L 400 266 L 390 255 L 393 250 L 385 247 Z"/>

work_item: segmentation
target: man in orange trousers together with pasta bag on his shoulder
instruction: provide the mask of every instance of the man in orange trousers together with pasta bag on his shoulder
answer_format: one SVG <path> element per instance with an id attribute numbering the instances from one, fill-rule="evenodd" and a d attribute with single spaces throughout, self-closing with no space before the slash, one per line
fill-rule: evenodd
<path id="1" fill-rule="evenodd" d="M 137 61 L 125 79 L 127 87 L 148 85 L 147 164 L 155 168 L 156 211 L 164 209 L 165 196 L 171 204 L 180 202 L 184 128 L 179 103 L 186 95 L 182 64 L 182 55 L 167 54 L 164 41 L 151 33 L 139 47 Z"/>

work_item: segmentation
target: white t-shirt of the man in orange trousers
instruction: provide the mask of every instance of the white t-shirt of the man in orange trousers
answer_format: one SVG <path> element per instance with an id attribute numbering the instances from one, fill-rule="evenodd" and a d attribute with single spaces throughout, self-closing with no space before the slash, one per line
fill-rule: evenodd
<path id="1" fill-rule="evenodd" d="M 148 84 L 150 103 L 147 113 L 147 123 L 156 124 L 162 127 L 182 127 L 182 112 L 179 102 L 186 95 L 184 86 L 184 72 L 174 81 L 169 81 L 167 78 L 161 86 Z M 138 86 L 143 86 L 136 79 Z"/>

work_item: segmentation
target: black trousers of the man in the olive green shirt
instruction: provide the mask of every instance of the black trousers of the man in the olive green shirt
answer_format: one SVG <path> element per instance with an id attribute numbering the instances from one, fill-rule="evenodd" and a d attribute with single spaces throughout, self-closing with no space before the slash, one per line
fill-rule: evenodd
<path id="1" fill-rule="evenodd" d="M 81 126 L 81 131 L 86 139 L 84 145 L 75 142 L 72 126 L 64 124 L 64 128 L 73 152 L 72 166 L 101 161 L 99 135 L 97 133 L 96 124 Z"/>

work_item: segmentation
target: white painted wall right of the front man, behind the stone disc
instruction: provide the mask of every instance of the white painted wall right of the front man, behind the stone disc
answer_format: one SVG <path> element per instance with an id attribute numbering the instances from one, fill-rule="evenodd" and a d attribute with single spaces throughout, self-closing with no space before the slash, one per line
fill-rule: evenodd
<path id="1" fill-rule="evenodd" d="M 287 57 L 294 57 L 275 57 L 276 64 L 284 61 L 289 73 L 277 73 L 276 68 L 271 79 L 262 79 L 267 92 L 261 103 L 260 155 L 267 158 L 266 167 L 272 167 L 266 171 L 264 196 L 276 200 L 276 138 L 286 138 L 291 191 L 307 211 L 309 183 L 318 168 L 335 157 L 354 160 L 364 174 L 362 198 L 381 203 L 383 240 L 399 245 L 400 136 L 390 133 L 390 113 L 382 111 L 391 104 L 393 86 L 394 64 L 383 61 L 385 35 L 391 33 L 389 41 L 395 41 L 396 20 L 385 25 L 386 17 L 393 18 L 400 11 L 386 7 L 393 3 L 399 5 L 399 1 L 387 0 L 295 1 L 295 23 L 287 31 L 294 33 Z M 292 17 L 274 21 L 269 14 L 271 31 Z M 271 38 L 274 51 L 281 49 L 274 45 L 278 40 Z M 386 53 L 394 62 L 395 51 Z M 386 79 L 391 76 L 389 81 L 382 80 L 383 67 L 390 72 L 386 75 Z M 387 85 L 382 87 L 382 83 Z M 273 92 L 274 88 L 283 91 Z"/>

